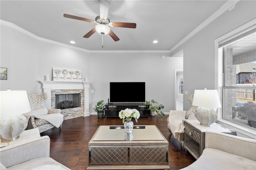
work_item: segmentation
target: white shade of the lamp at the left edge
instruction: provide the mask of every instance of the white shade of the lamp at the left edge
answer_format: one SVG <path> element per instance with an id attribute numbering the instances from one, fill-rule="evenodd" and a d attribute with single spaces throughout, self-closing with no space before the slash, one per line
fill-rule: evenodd
<path id="1" fill-rule="evenodd" d="M 0 91 L 0 117 L 31 111 L 26 91 Z"/>

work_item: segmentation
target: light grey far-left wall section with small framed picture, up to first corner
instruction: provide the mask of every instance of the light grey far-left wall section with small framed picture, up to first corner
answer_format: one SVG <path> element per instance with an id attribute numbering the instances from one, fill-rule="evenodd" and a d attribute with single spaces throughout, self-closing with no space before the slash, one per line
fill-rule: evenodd
<path id="1" fill-rule="evenodd" d="M 37 91 L 36 43 L 36 39 L 1 25 L 0 66 L 7 67 L 7 80 L 0 80 L 1 90 L 10 88 L 11 90 L 28 90 L 28 93 Z"/>

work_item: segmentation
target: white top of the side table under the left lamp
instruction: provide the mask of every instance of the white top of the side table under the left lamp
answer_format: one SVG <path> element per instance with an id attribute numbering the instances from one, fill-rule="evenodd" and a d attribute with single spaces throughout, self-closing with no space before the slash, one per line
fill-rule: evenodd
<path id="1" fill-rule="evenodd" d="M 34 139 L 40 137 L 40 133 L 39 133 L 39 129 L 35 128 L 35 129 L 29 129 L 26 131 L 23 131 L 20 134 L 20 137 L 14 141 L 10 141 L 10 142 L 0 142 L 0 148 L 2 147 L 7 147 L 9 145 L 14 145 L 16 143 L 20 143 L 21 141 L 26 141 L 29 139 Z"/>

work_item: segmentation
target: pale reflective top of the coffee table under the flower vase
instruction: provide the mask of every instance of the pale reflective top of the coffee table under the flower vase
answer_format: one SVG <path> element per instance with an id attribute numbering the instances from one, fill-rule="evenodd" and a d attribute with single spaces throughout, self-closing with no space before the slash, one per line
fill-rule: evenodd
<path id="1" fill-rule="evenodd" d="M 124 141 L 124 126 L 100 126 L 92 141 Z M 160 131 L 155 125 L 134 126 L 132 130 L 134 141 L 164 141 Z"/>

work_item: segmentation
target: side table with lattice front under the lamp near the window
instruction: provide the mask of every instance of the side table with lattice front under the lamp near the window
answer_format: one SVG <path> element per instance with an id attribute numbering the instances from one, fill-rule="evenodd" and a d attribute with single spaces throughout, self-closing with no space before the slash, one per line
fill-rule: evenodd
<path id="1" fill-rule="evenodd" d="M 200 125 L 198 120 L 185 120 L 184 121 L 184 148 L 198 159 L 205 148 L 205 132 L 206 130 L 229 133 L 236 135 L 235 131 L 230 131 L 217 123 L 213 123 L 211 127 Z"/>

